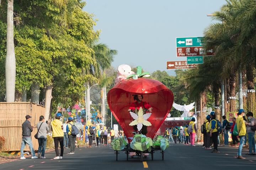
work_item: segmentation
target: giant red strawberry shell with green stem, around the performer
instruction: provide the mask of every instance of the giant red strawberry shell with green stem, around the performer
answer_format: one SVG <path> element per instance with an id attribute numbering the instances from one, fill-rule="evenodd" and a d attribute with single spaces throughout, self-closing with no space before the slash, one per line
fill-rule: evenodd
<path id="1" fill-rule="evenodd" d="M 133 126 L 129 124 L 134 120 L 128 108 L 135 102 L 133 95 L 143 95 L 143 101 L 153 107 L 151 116 L 147 119 L 151 123 L 148 126 L 146 136 L 153 138 L 158 131 L 174 101 L 174 95 L 164 84 L 157 80 L 147 79 L 148 73 L 142 73 L 140 66 L 137 67 L 137 74 L 128 76 L 115 85 L 107 95 L 108 105 L 114 117 L 121 125 L 126 137 L 133 137 Z"/>

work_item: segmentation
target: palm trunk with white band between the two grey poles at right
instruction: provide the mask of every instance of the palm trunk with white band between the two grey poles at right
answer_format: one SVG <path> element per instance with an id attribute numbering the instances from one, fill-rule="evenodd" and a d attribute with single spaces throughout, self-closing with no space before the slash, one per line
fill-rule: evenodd
<path id="1" fill-rule="evenodd" d="M 235 82 L 235 74 L 231 74 L 229 78 L 229 102 L 230 102 L 230 112 L 236 112 L 236 97 L 235 97 L 235 87 L 236 87 L 236 82 Z"/>

